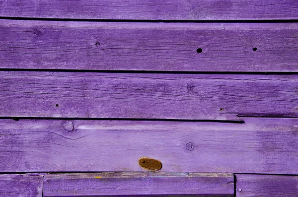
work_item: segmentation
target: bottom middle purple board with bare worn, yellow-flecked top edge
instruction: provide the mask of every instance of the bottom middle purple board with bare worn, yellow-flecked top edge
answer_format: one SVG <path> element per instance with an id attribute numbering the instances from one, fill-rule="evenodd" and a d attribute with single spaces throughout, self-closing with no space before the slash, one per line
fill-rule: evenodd
<path id="1" fill-rule="evenodd" d="M 126 195 L 233 197 L 233 182 L 232 174 L 220 173 L 47 174 L 44 182 L 44 197 L 122 197 Z"/>

